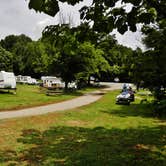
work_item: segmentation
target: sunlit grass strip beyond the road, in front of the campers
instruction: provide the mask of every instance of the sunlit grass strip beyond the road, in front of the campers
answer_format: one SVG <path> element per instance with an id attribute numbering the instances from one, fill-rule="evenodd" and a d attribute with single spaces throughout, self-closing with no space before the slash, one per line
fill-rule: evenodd
<path id="1" fill-rule="evenodd" d="M 48 103 L 64 101 L 82 95 L 83 93 L 95 90 L 86 88 L 72 93 L 62 93 L 47 96 L 38 86 L 17 85 L 17 93 L 0 93 L 0 111 L 19 109 Z"/>

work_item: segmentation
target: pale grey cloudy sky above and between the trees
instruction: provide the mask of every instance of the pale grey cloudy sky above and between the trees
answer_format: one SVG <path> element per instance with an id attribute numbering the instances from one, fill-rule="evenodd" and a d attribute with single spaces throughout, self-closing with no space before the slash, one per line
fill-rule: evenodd
<path id="1" fill-rule="evenodd" d="M 70 16 L 72 24 L 78 25 L 80 23 L 78 10 L 81 6 L 90 4 L 91 0 L 84 0 L 74 7 L 65 3 L 60 5 L 60 9 L 66 20 L 69 20 Z M 27 0 L 0 0 L 0 39 L 11 34 L 25 34 L 33 40 L 38 40 L 47 25 L 57 24 L 60 20 L 60 15 L 51 17 L 44 13 L 36 13 L 33 9 L 30 10 Z M 120 35 L 116 31 L 113 33 L 116 34 L 119 44 L 133 49 L 143 48 L 139 32 L 127 32 L 124 35 Z"/>

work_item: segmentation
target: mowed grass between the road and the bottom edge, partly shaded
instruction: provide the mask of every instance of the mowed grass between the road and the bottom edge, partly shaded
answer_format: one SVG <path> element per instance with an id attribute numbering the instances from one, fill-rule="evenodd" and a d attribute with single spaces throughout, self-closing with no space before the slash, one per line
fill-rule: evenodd
<path id="1" fill-rule="evenodd" d="M 165 166 L 166 120 L 153 107 L 116 105 L 118 91 L 88 106 L 0 121 L 0 165 Z"/>

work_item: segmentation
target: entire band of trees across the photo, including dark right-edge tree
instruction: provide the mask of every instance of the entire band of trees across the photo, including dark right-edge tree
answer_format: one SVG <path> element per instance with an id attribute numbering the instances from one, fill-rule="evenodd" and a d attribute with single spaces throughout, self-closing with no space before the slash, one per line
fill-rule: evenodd
<path id="1" fill-rule="evenodd" d="M 142 28 L 148 48 L 145 52 L 119 45 L 115 36 L 96 32 L 87 23 L 74 28 L 67 24 L 47 26 L 38 41 L 25 35 L 9 35 L 0 41 L 0 70 L 35 78 L 55 75 L 66 87 L 72 81 L 87 84 L 91 76 L 100 81 L 118 77 L 151 90 L 156 110 L 165 110 L 165 27 L 162 21 L 157 29 Z"/>

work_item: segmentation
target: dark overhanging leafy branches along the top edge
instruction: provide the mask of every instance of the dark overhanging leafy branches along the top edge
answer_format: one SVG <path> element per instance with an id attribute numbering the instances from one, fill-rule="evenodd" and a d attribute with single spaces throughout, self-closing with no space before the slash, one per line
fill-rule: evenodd
<path id="1" fill-rule="evenodd" d="M 29 8 L 55 16 L 59 11 L 58 2 L 75 5 L 82 0 L 30 0 Z M 116 5 L 121 3 L 121 5 Z M 130 4 L 131 10 L 126 10 Z M 120 6 L 120 7 L 119 7 Z M 93 0 L 90 7 L 80 10 L 80 18 L 93 24 L 98 32 L 111 32 L 113 29 L 124 34 L 127 30 L 135 32 L 136 24 L 150 24 L 166 18 L 165 0 Z"/>

